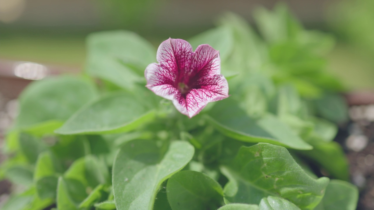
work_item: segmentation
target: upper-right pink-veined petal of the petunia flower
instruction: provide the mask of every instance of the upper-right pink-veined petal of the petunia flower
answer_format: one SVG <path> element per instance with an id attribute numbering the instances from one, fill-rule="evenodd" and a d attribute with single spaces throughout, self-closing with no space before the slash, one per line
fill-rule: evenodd
<path id="1" fill-rule="evenodd" d="M 220 53 L 209 44 L 199 45 L 193 53 L 191 65 L 199 78 L 221 74 Z"/>

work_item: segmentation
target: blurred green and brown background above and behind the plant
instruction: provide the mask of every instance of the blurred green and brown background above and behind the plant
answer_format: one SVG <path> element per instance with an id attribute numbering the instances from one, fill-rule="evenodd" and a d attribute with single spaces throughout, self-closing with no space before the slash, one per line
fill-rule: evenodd
<path id="1" fill-rule="evenodd" d="M 126 29 L 158 46 L 169 37 L 187 39 L 225 12 L 253 22 L 258 6 L 275 0 L 0 0 L 0 60 L 84 68 L 85 37 Z M 329 68 L 351 90 L 374 89 L 374 1 L 283 1 L 308 29 L 336 38 Z M 0 68 L 0 73 L 1 73 Z"/>

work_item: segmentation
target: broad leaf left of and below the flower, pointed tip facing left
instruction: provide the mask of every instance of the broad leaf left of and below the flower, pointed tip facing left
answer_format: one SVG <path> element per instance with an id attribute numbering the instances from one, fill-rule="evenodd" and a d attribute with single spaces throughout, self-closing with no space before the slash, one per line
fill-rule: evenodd
<path id="1" fill-rule="evenodd" d="M 63 135 L 121 133 L 137 128 L 153 116 L 154 111 L 138 102 L 134 95 L 115 93 L 83 107 L 55 132 Z"/>

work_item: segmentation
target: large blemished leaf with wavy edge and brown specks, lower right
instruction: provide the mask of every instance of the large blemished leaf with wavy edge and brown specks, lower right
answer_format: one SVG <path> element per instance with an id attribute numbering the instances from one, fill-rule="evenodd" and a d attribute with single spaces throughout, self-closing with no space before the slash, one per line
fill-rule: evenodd
<path id="1" fill-rule="evenodd" d="M 225 203 L 259 204 L 269 195 L 281 197 L 300 209 L 313 209 L 322 200 L 329 179 L 313 179 L 287 149 L 268 143 L 240 148 L 230 166 L 221 171 L 229 182 Z"/>

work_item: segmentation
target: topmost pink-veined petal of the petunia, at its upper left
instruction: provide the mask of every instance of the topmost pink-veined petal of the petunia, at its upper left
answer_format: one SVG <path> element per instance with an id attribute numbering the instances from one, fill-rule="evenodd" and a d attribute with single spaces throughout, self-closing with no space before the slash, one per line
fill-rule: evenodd
<path id="1" fill-rule="evenodd" d="M 190 67 L 192 46 L 185 40 L 169 38 L 157 50 L 157 61 L 163 68 L 178 75 Z"/>

